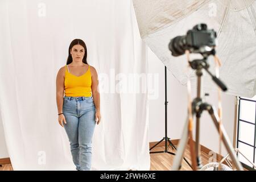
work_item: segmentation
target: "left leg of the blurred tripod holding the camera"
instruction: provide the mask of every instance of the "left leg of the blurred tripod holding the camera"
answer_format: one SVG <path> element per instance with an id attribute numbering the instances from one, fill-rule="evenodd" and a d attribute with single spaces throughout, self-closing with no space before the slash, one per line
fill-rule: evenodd
<path id="1" fill-rule="evenodd" d="M 172 171 L 178 171 L 181 167 L 181 160 L 183 159 L 185 147 L 188 143 L 188 117 L 186 119 L 184 129 L 181 135 L 181 139 L 177 146 L 177 153 L 174 158 L 174 163 L 172 165 Z"/>

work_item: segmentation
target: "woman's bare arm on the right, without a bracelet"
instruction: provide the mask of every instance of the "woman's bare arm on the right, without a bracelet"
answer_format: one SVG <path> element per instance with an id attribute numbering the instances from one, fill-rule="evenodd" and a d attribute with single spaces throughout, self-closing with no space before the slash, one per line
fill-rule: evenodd
<path id="1" fill-rule="evenodd" d="M 101 115 L 100 115 L 100 92 L 98 90 L 98 74 L 94 67 L 90 66 L 92 73 L 92 96 L 94 105 L 96 107 L 96 121 L 97 124 L 100 123 Z"/>

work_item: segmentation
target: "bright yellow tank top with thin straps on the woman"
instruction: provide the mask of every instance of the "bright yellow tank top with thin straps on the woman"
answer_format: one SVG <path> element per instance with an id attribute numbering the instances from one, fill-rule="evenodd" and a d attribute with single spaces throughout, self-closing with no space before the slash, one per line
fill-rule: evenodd
<path id="1" fill-rule="evenodd" d="M 90 65 L 88 71 L 81 76 L 69 73 L 68 66 L 65 66 L 65 96 L 68 97 L 91 97 L 92 96 L 92 75 Z"/>

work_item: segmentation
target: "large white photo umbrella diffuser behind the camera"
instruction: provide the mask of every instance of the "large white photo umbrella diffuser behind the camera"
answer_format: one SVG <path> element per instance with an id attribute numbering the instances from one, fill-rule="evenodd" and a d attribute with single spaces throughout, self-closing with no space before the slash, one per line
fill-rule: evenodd
<path id="1" fill-rule="evenodd" d="M 185 35 L 198 23 L 218 32 L 217 55 L 222 61 L 220 78 L 229 94 L 256 94 L 256 1 L 255 0 L 133 0 L 142 39 L 181 84 L 187 84 L 185 55 L 168 50 L 172 38 Z M 200 56 L 201 57 L 201 56 Z M 209 63 L 214 73 L 210 57 Z M 217 90 L 205 74 L 204 88 Z M 191 72 L 192 86 L 196 76 Z"/>

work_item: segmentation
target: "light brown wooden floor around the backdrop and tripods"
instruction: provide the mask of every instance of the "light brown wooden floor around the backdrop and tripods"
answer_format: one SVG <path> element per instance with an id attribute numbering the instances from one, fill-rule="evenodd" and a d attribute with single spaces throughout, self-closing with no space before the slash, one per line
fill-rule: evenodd
<path id="1" fill-rule="evenodd" d="M 162 147 L 155 147 L 151 151 L 163 151 L 164 146 Z M 176 153 L 175 150 L 172 150 L 170 147 L 170 152 Z M 185 158 L 188 159 L 189 163 L 190 160 L 190 152 L 189 148 L 186 148 L 185 151 Z M 150 154 L 151 162 L 150 162 L 150 171 L 170 171 L 172 163 L 174 161 L 174 155 L 168 154 L 168 153 L 160 153 L 160 154 Z M 208 154 L 205 154 L 205 152 L 201 152 L 201 160 L 202 164 L 205 165 L 208 163 L 208 159 L 210 156 Z M 188 164 L 183 160 L 181 171 L 191 171 L 192 169 L 188 166 Z M 0 167 L 0 171 L 13 171 L 13 167 L 11 167 L 11 164 L 3 164 L 2 167 Z"/>

